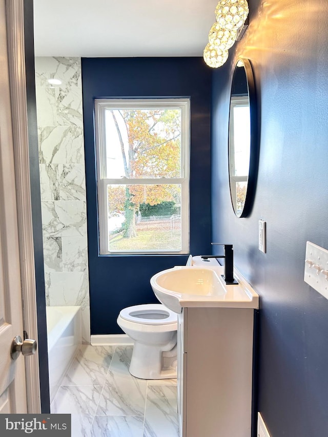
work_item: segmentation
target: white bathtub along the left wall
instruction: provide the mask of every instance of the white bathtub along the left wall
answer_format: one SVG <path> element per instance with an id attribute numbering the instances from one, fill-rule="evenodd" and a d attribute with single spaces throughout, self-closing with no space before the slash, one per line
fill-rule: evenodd
<path id="1" fill-rule="evenodd" d="M 81 308 L 47 306 L 50 402 L 81 344 Z"/>

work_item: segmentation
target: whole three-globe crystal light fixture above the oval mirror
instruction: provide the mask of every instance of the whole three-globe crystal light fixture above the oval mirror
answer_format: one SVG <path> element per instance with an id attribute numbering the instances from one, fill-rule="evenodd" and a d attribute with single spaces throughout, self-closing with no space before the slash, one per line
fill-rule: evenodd
<path id="1" fill-rule="evenodd" d="M 212 68 L 221 67 L 228 59 L 228 49 L 240 40 L 248 23 L 247 0 L 220 0 L 215 8 L 216 23 L 209 33 L 209 44 L 204 48 L 203 58 Z"/>

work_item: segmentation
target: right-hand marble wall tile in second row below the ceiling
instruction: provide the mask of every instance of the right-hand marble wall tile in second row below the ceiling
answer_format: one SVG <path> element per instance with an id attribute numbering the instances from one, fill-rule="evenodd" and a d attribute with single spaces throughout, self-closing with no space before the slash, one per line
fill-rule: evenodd
<path id="1" fill-rule="evenodd" d="M 56 116 L 59 126 L 83 126 L 80 88 L 56 88 Z"/>

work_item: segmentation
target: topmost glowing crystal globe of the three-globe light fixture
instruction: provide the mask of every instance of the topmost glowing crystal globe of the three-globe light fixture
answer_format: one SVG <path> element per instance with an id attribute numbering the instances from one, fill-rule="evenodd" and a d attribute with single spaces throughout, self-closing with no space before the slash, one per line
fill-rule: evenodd
<path id="1" fill-rule="evenodd" d="M 220 0 L 215 8 L 216 21 L 223 29 L 239 29 L 249 13 L 247 0 Z"/>

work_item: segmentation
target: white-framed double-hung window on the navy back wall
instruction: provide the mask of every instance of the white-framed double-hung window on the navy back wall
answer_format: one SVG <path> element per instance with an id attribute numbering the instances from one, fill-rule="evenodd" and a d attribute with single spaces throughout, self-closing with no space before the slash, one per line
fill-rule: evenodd
<path id="1" fill-rule="evenodd" d="M 189 99 L 96 99 L 100 254 L 189 253 Z"/>

